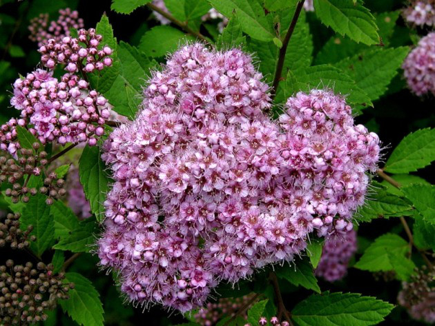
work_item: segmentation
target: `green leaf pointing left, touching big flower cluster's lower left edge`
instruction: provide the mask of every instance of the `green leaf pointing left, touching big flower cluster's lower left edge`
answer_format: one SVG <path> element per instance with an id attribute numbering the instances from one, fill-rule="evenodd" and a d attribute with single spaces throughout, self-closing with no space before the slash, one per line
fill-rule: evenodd
<path id="1" fill-rule="evenodd" d="M 53 248 L 69 250 L 70 252 L 90 252 L 90 246 L 95 243 L 97 223 L 94 218 L 86 218 L 79 223 L 79 227 L 72 230 L 68 236 L 61 237 Z"/>

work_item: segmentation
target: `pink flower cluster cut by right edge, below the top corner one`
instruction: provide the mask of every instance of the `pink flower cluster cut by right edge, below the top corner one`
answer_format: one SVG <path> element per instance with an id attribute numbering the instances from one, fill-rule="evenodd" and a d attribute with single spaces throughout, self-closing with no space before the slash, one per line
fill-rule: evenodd
<path id="1" fill-rule="evenodd" d="M 418 96 L 435 94 L 435 32 L 418 42 L 402 65 L 408 87 Z"/>

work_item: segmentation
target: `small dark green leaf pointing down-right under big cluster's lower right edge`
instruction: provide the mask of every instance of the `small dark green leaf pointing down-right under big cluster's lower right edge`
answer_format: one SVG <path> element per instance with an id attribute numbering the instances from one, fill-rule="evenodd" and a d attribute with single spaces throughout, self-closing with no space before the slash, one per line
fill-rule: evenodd
<path id="1" fill-rule="evenodd" d="M 313 267 L 307 259 L 295 261 L 294 266 L 284 265 L 276 269 L 276 276 L 284 278 L 297 287 L 301 285 L 306 289 L 312 289 L 320 293 L 320 287 L 314 276 Z"/>

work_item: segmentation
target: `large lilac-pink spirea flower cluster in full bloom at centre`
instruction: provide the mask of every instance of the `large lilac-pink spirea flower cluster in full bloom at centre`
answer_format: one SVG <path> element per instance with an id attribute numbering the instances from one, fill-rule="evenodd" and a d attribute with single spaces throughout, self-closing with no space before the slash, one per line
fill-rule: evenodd
<path id="1" fill-rule="evenodd" d="M 292 261 L 309 234 L 351 230 L 378 137 L 327 90 L 299 93 L 274 122 L 251 57 L 186 45 L 155 72 L 135 121 L 104 145 L 101 265 L 144 305 L 186 312 L 219 281 Z"/>

